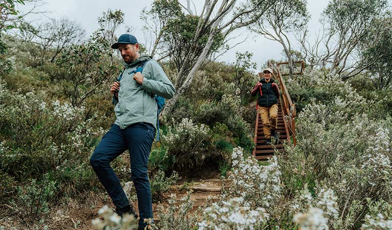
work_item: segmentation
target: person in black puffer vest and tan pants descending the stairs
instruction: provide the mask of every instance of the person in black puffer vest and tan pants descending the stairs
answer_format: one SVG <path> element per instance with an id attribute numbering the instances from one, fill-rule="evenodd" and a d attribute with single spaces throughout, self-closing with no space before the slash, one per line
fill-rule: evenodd
<path id="1" fill-rule="evenodd" d="M 270 68 L 266 68 L 263 74 L 264 78 L 255 85 L 251 95 L 256 96 L 256 94 L 259 94 L 258 105 L 264 137 L 266 144 L 270 145 L 272 138 L 278 140 L 278 134 L 275 130 L 278 125 L 279 88 L 271 78 L 272 70 Z"/>

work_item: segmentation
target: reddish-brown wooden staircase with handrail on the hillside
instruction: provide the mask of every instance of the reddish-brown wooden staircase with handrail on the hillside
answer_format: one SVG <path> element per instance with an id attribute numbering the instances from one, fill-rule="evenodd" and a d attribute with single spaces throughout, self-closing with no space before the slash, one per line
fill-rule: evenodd
<path id="1" fill-rule="evenodd" d="M 301 71 L 295 73 L 295 75 L 302 75 L 304 70 L 304 62 L 297 61 L 294 63 L 301 64 Z M 279 140 L 276 143 L 272 143 L 272 145 L 266 145 L 266 139 L 263 132 L 262 121 L 260 118 L 259 110 L 257 110 L 257 119 L 256 119 L 256 127 L 255 127 L 255 149 L 253 149 L 253 156 L 259 160 L 267 160 L 271 158 L 275 151 L 285 152 L 284 144 L 293 144 L 296 145 L 295 139 L 295 120 L 296 112 L 295 112 L 295 104 L 292 103 L 290 95 L 287 91 L 285 82 L 282 76 L 288 74 L 281 74 L 279 65 L 288 64 L 288 62 L 277 63 L 276 67 L 272 64 L 269 64 L 273 70 L 273 78 L 278 80 L 279 89 L 282 92 L 282 96 L 279 100 L 279 110 L 278 110 L 278 128 L 276 129 L 276 133 L 279 135 Z M 263 73 L 259 73 L 260 78 L 263 76 Z M 292 142 L 291 142 L 292 141 Z"/>

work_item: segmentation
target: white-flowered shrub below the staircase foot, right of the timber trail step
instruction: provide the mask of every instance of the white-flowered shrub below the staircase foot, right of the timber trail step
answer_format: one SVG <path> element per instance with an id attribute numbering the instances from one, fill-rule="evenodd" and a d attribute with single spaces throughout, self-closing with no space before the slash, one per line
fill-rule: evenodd
<path id="1" fill-rule="evenodd" d="M 262 166 L 254 157 L 244 158 L 242 148 L 234 148 L 232 154 L 232 180 L 223 198 L 241 197 L 252 208 L 273 209 L 281 196 L 281 172 L 276 157 Z"/>

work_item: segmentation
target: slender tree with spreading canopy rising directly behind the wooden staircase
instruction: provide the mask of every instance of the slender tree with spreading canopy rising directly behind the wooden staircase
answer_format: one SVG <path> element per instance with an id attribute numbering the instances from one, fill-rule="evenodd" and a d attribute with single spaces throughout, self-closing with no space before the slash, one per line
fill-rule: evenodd
<path id="1" fill-rule="evenodd" d="M 289 63 L 290 76 L 294 73 L 292 64 L 292 45 L 288 33 L 306 27 L 310 15 L 306 0 L 278 0 L 254 24 L 249 25 L 253 32 L 282 44 Z"/>

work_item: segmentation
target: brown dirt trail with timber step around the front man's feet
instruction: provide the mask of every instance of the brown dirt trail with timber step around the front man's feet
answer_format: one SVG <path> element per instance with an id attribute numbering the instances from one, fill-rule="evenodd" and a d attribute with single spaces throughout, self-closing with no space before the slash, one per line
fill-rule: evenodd
<path id="1" fill-rule="evenodd" d="M 165 210 L 168 207 L 168 199 L 170 194 L 176 194 L 178 203 L 181 203 L 180 199 L 187 194 L 189 190 L 192 190 L 191 199 L 194 201 L 194 208 L 196 211 L 199 207 L 204 207 L 207 198 L 211 196 L 213 201 L 217 201 L 222 187 L 222 180 L 219 178 L 219 174 L 210 175 L 207 178 L 194 178 L 187 179 L 186 181 L 179 181 L 177 185 L 166 192 L 165 201 L 160 203 L 153 203 L 154 219 L 159 221 L 158 218 L 158 206 L 163 205 Z M 52 212 L 49 217 L 45 217 L 45 223 L 49 229 L 94 229 L 91 225 L 91 220 L 98 217 L 98 210 L 108 205 L 114 208 L 111 199 L 106 193 L 94 193 L 84 194 L 81 198 L 83 203 L 75 200 L 68 200 L 67 205 L 63 208 L 58 208 Z M 135 203 L 136 204 L 136 203 Z M 137 212 L 137 208 L 135 207 Z M 20 226 L 20 221 L 15 221 L 15 218 L 3 218 L 0 219 L 0 229 L 33 229 L 34 225 L 29 227 L 25 224 L 24 227 Z M 41 225 L 42 226 L 42 225 Z M 3 228 L 2 228 L 3 227 Z"/>

